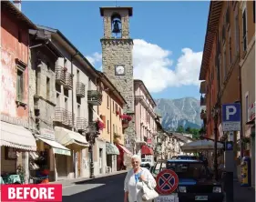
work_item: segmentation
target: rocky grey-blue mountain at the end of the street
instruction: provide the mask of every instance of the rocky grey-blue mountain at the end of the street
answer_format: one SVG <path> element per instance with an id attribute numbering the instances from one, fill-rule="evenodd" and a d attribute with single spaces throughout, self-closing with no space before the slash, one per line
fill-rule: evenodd
<path id="1" fill-rule="evenodd" d="M 200 100 L 194 97 L 180 99 L 155 99 L 156 112 L 161 118 L 162 126 L 169 131 L 175 131 L 178 126 L 184 128 L 200 128 Z"/>

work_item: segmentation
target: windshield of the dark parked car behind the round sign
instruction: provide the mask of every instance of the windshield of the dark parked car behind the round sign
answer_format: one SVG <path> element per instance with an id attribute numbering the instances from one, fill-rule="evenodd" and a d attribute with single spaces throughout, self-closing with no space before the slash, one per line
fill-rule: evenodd
<path id="1" fill-rule="evenodd" d="M 206 178 L 210 172 L 203 163 L 196 162 L 167 162 L 167 169 L 172 169 L 179 178 Z"/>

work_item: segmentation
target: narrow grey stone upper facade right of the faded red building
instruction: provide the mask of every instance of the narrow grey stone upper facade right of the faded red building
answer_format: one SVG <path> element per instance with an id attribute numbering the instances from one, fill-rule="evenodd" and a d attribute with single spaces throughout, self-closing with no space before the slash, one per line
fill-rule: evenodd
<path id="1" fill-rule="evenodd" d="M 44 47 L 38 47 L 31 52 L 30 74 L 30 110 L 32 128 L 47 128 L 53 130 L 53 120 L 56 106 L 56 57 L 46 54 Z M 47 90 L 47 78 L 49 88 Z M 48 91 L 48 93 L 47 93 Z M 38 113 L 35 111 L 38 106 Z M 36 113 L 36 114 L 35 114 Z M 39 119 L 38 121 L 36 120 Z"/>

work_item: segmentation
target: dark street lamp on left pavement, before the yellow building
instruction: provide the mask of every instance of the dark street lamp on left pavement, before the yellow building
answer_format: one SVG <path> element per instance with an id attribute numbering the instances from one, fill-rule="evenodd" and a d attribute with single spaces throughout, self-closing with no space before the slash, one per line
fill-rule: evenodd
<path id="1" fill-rule="evenodd" d="M 95 139 L 98 136 L 96 126 L 87 127 L 87 141 L 89 143 L 89 153 L 90 153 L 90 178 L 95 178 L 94 175 L 94 162 L 93 162 L 93 145 L 95 144 Z"/>

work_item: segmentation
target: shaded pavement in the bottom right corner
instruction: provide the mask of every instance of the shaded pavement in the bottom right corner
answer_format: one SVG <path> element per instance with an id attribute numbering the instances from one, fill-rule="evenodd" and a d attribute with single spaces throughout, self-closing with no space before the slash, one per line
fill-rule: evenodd
<path id="1" fill-rule="evenodd" d="M 239 181 L 234 181 L 234 202 L 255 202 L 255 188 L 241 187 Z"/>

